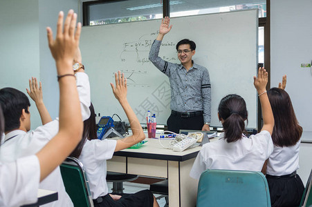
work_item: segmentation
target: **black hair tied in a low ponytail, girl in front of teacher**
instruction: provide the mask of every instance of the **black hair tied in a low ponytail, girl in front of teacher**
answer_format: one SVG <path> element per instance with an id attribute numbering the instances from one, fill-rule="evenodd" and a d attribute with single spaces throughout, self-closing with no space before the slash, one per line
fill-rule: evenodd
<path id="1" fill-rule="evenodd" d="M 241 139 L 245 131 L 245 120 L 248 123 L 248 112 L 245 100 L 239 95 L 227 95 L 219 103 L 219 119 L 223 119 L 224 138 L 228 143 Z"/>

